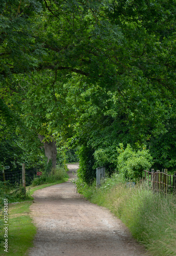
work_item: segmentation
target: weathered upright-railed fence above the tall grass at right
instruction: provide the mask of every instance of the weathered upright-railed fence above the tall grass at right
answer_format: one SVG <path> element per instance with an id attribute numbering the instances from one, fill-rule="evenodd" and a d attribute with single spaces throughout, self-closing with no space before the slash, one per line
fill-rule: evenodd
<path id="1" fill-rule="evenodd" d="M 154 191 L 161 191 L 165 194 L 176 192 L 176 172 L 174 175 L 167 174 L 167 169 L 164 172 L 152 169 L 151 172 L 145 171 L 145 181 L 148 186 Z"/>

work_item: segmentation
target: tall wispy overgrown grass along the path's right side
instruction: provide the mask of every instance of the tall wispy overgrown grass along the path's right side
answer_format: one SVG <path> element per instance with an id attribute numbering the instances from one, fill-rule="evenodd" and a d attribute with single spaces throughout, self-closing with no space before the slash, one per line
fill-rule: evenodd
<path id="1" fill-rule="evenodd" d="M 144 183 L 127 187 L 119 175 L 106 179 L 99 188 L 94 182 L 83 195 L 109 208 L 150 254 L 176 255 L 175 196 L 153 193 Z"/>

